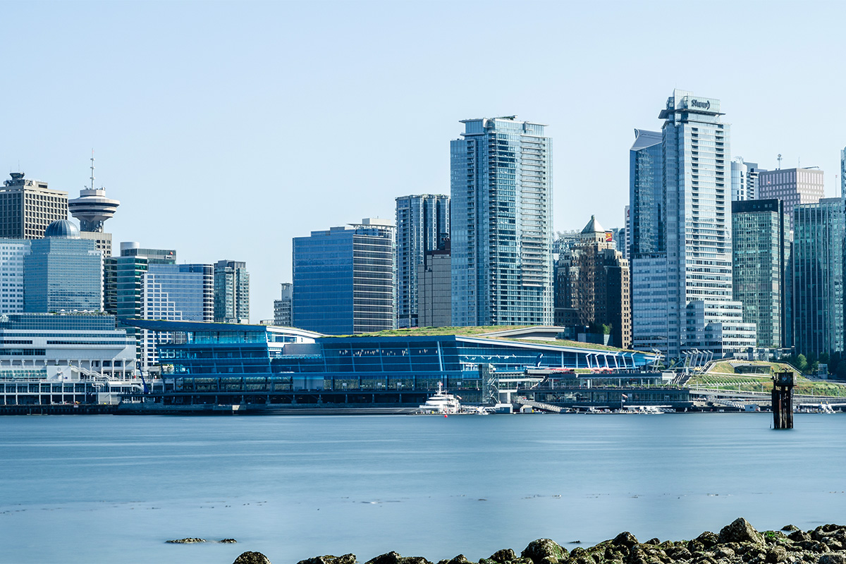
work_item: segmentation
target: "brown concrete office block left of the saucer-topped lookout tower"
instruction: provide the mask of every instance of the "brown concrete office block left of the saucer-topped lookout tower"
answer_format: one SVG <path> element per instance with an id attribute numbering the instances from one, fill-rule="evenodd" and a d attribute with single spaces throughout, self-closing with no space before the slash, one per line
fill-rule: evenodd
<path id="1" fill-rule="evenodd" d="M 52 222 L 68 219 L 68 193 L 12 172 L 0 189 L 0 238 L 40 239 Z"/>

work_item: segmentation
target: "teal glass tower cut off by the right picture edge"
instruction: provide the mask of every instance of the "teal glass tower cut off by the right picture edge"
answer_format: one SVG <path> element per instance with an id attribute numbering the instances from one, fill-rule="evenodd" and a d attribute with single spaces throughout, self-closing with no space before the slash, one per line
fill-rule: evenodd
<path id="1" fill-rule="evenodd" d="M 844 216 L 840 198 L 823 198 L 815 204 L 794 207 L 797 353 L 843 352 Z"/>

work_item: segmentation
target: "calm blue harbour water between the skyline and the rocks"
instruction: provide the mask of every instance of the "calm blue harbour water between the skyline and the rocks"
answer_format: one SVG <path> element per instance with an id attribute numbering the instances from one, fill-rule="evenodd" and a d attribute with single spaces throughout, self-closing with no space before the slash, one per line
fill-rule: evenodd
<path id="1" fill-rule="evenodd" d="M 0 418 L 0 562 L 471 560 L 846 523 L 846 416 Z M 233 537 L 237 545 L 168 545 Z"/>

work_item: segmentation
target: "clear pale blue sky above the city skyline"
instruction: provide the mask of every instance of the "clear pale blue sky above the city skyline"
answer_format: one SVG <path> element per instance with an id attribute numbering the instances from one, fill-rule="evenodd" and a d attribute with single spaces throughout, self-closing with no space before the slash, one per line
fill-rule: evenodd
<path id="1" fill-rule="evenodd" d="M 464 118 L 553 138 L 555 229 L 623 222 L 633 129 L 722 100 L 732 156 L 846 145 L 843 3 L 3 2 L 3 174 L 121 200 L 115 245 L 246 260 L 272 318 L 291 238 L 449 193 Z"/>

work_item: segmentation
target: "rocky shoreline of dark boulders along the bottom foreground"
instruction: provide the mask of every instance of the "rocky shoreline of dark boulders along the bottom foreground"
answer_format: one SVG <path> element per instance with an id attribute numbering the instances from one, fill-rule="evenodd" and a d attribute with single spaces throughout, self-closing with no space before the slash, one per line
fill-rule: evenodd
<path id="1" fill-rule="evenodd" d="M 519 556 L 510 548 L 497 550 L 478 564 L 846 564 L 846 525 L 827 524 L 803 531 L 786 525 L 780 531 L 755 530 L 743 517 L 692 540 L 649 539 L 641 543 L 620 533 L 596 546 L 567 550 L 551 539 L 529 543 Z M 271 564 L 261 552 L 247 551 L 233 564 Z M 314 556 L 298 564 L 358 564 L 353 554 Z M 387 552 L 365 564 L 436 564 L 423 556 Z M 459 554 L 437 564 L 473 564 Z"/>

